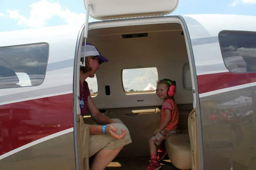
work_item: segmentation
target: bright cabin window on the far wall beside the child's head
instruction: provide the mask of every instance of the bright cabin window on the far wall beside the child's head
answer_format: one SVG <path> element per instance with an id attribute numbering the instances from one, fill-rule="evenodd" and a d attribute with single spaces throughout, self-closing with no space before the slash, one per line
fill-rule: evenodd
<path id="1" fill-rule="evenodd" d="M 124 69 L 122 71 L 125 93 L 155 92 L 158 74 L 156 67 Z"/>

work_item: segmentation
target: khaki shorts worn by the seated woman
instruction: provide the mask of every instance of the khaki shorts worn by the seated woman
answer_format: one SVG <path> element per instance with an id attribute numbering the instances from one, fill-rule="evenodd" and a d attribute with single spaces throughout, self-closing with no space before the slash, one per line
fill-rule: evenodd
<path id="1" fill-rule="evenodd" d="M 111 124 L 115 128 L 117 128 L 118 134 L 122 133 L 121 129 L 126 130 L 127 134 L 126 134 L 125 138 L 124 139 L 114 139 L 109 134 L 90 135 L 89 157 L 93 156 L 101 149 L 114 150 L 114 149 L 123 147 L 132 142 L 131 137 L 130 137 L 130 132 L 126 128 L 126 126 L 123 124 L 123 122 L 121 120 L 119 120 L 118 118 L 113 118 L 112 120 L 115 122 L 118 122 L 118 123 Z"/>

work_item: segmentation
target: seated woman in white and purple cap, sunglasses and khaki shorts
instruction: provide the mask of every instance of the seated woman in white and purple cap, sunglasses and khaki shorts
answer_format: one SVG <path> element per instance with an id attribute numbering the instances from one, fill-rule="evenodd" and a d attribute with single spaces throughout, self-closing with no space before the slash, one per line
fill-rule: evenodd
<path id="1" fill-rule="evenodd" d="M 108 60 L 100 55 L 99 50 L 92 44 L 86 43 L 86 53 L 84 62 L 84 46 L 82 47 L 80 66 L 80 108 L 81 115 L 84 116 L 87 109 L 93 120 L 98 125 L 89 125 L 90 141 L 89 156 L 95 157 L 90 166 L 91 170 L 104 169 L 121 151 L 123 146 L 132 142 L 129 130 L 118 119 L 111 120 L 101 114 L 95 106 L 91 96 L 86 78 L 93 78 L 100 69 L 100 64 Z M 102 142 L 103 141 L 103 142 Z"/>

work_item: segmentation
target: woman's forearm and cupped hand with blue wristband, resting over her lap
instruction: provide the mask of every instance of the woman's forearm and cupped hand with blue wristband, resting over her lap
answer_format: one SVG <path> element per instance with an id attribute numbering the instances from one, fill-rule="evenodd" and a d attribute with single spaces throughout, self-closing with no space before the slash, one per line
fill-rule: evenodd
<path id="1" fill-rule="evenodd" d="M 90 135 L 92 134 L 104 134 L 101 125 L 89 125 Z M 116 133 L 117 129 L 113 125 L 106 125 L 106 133 L 109 134 L 114 139 L 124 139 L 126 135 L 126 130 L 121 130 L 122 133 Z"/>

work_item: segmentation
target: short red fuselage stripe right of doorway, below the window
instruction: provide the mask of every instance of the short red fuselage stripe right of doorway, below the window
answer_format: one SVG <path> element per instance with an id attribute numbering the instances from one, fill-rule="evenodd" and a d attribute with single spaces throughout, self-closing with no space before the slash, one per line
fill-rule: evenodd
<path id="1" fill-rule="evenodd" d="M 256 82 L 256 73 L 214 73 L 197 75 L 199 94 Z"/>

